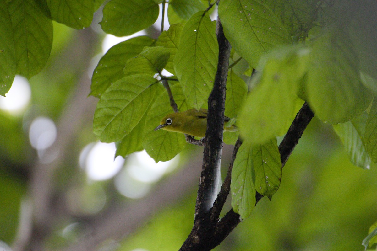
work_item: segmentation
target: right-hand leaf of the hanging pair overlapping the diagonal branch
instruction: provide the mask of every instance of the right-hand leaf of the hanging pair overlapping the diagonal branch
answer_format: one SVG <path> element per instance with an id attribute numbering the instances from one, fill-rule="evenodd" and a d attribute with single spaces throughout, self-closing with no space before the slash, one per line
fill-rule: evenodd
<path id="1" fill-rule="evenodd" d="M 271 200 L 274 193 L 279 189 L 282 177 L 282 163 L 276 138 L 273 137 L 264 145 L 254 146 L 252 158 L 256 191 Z"/>

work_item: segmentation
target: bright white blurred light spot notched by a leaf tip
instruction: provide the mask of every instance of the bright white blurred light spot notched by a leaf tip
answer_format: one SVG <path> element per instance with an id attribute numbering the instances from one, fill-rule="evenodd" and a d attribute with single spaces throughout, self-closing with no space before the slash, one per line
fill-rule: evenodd
<path id="1" fill-rule="evenodd" d="M 85 149 L 85 148 L 84 148 Z M 115 143 L 97 142 L 87 154 L 85 168 L 92 180 L 107 180 L 112 178 L 122 168 L 124 160 L 115 158 Z"/>

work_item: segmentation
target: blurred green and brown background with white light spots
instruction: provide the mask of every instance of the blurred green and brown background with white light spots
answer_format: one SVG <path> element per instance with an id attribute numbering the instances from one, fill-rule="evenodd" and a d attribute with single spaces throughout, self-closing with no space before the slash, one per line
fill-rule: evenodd
<path id="1" fill-rule="evenodd" d="M 92 72 L 128 39 L 103 33 L 100 20 L 101 10 L 84 30 L 54 22 L 46 67 L 0 97 L 0 250 L 178 250 L 190 233 L 203 149 L 187 145 L 166 163 L 145 152 L 114 159 L 115 145 L 92 133 Z M 156 37 L 160 23 L 136 35 Z M 232 151 L 224 146 L 224 176 Z M 314 117 L 272 200 L 215 250 L 363 250 L 377 221 L 376 177 Z"/>

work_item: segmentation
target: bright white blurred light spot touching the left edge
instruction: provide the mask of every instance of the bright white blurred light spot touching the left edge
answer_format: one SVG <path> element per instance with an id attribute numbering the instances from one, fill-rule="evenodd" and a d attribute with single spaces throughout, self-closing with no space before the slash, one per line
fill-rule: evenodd
<path id="1" fill-rule="evenodd" d="M 11 89 L 0 96 L 0 109 L 12 114 L 22 113 L 30 102 L 31 90 L 26 78 L 16 75 Z"/>

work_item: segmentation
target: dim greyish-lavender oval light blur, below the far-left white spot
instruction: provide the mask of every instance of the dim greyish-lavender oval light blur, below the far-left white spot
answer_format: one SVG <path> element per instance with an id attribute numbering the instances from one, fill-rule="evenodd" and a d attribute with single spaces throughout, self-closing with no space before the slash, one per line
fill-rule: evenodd
<path id="1" fill-rule="evenodd" d="M 30 125 L 30 144 L 37 150 L 47 149 L 54 143 L 56 134 L 56 126 L 52 119 L 42 116 L 37 117 Z"/>

